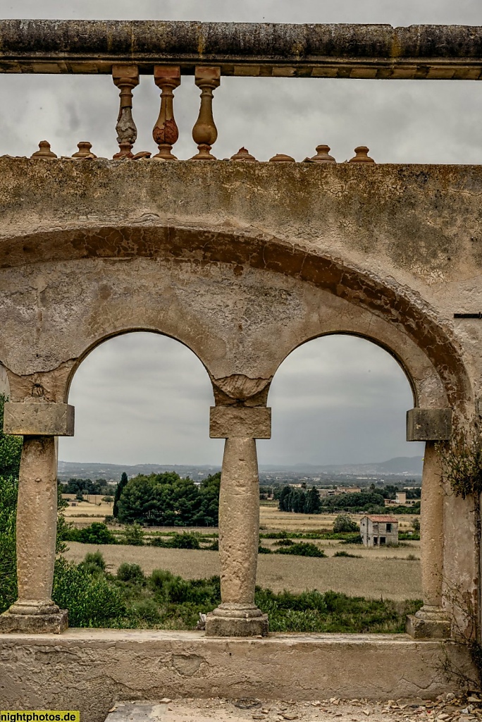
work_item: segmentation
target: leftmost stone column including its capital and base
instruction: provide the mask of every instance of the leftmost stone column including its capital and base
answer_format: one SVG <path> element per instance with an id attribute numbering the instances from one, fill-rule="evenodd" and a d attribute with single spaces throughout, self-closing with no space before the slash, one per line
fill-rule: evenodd
<path id="1" fill-rule="evenodd" d="M 18 599 L 0 615 L 0 632 L 55 632 L 66 609 L 51 599 L 56 557 L 56 437 L 74 433 L 68 404 L 5 404 L 4 432 L 23 436 L 17 505 Z"/>

